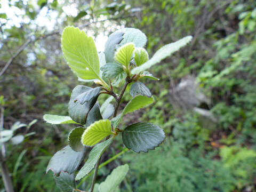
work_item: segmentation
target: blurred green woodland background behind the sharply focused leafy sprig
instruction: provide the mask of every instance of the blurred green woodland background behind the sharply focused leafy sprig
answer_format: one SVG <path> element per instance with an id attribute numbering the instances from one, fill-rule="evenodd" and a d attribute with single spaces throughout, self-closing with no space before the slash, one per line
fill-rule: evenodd
<path id="1" fill-rule="evenodd" d="M 81 84 L 61 53 L 60 35 L 68 25 L 94 36 L 100 51 L 116 29 L 138 28 L 148 37 L 150 56 L 164 44 L 194 37 L 151 69 L 161 79 L 146 82 L 154 105 L 125 116 L 125 124 L 140 119 L 161 125 L 166 141 L 148 154 L 126 152 L 100 169 L 99 180 L 128 162 L 121 191 L 256 190 L 254 0 L 2 0 L 0 5 L 4 129 L 38 119 L 29 130 L 15 132 L 35 134 L 5 145 L 15 191 L 58 191 L 45 169 L 73 126 L 52 126 L 42 116 L 68 115 L 70 92 Z M 120 143 L 102 162 L 123 149 Z M 4 191 L 2 182 L 0 188 Z"/>

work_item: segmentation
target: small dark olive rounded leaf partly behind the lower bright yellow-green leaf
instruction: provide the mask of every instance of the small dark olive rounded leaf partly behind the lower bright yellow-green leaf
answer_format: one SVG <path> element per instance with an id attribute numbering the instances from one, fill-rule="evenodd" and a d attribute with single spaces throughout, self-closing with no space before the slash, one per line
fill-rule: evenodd
<path id="1" fill-rule="evenodd" d="M 71 130 L 68 134 L 68 145 L 74 151 L 81 151 L 83 150 L 84 146 L 82 145 L 81 138 L 82 134 L 84 133 L 84 127 L 76 127 L 75 129 Z"/>

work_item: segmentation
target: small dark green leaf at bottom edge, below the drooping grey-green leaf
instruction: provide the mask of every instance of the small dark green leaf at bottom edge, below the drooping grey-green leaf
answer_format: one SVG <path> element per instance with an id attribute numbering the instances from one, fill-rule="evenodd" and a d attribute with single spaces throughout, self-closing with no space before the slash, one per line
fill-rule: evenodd
<path id="1" fill-rule="evenodd" d="M 73 192 L 76 189 L 74 174 L 61 172 L 59 177 L 54 177 L 54 180 L 61 192 Z"/>

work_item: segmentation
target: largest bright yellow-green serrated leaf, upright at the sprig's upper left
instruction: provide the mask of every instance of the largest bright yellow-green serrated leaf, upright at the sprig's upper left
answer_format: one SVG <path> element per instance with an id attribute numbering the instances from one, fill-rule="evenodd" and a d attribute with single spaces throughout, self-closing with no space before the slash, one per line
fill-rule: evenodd
<path id="1" fill-rule="evenodd" d="M 75 27 L 66 27 L 61 37 L 63 55 L 82 79 L 100 79 L 99 57 L 92 37 Z"/>

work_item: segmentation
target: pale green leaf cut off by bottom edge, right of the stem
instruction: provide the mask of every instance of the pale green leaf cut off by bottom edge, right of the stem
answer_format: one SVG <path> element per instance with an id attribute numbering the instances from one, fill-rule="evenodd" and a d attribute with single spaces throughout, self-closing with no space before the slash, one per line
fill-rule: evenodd
<path id="1" fill-rule="evenodd" d="M 100 183 L 99 192 L 112 192 L 115 191 L 118 185 L 124 180 L 125 175 L 129 170 L 127 164 L 118 166 L 114 169 L 106 180 Z"/>

